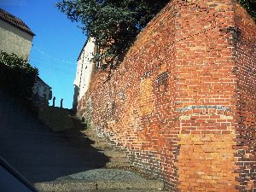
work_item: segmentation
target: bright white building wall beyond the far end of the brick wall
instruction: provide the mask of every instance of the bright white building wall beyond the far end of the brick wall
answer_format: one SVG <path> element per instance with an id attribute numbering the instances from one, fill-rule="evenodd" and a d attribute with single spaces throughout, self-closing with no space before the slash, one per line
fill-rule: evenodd
<path id="1" fill-rule="evenodd" d="M 84 96 L 90 85 L 90 78 L 93 72 L 94 63 L 92 60 L 95 50 L 95 39 L 89 38 L 84 48 L 81 50 L 78 59 L 77 73 L 74 80 L 73 109 Z"/>

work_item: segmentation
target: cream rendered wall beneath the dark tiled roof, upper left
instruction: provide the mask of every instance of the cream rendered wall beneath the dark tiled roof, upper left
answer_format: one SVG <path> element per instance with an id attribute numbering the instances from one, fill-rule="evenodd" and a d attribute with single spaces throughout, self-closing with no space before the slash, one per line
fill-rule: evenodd
<path id="1" fill-rule="evenodd" d="M 0 20 L 0 49 L 28 59 L 33 36 L 19 28 Z"/>

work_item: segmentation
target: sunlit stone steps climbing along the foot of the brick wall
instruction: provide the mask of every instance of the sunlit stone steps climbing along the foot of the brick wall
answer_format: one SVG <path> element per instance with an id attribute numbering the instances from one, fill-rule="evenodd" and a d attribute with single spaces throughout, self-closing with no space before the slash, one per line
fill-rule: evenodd
<path id="1" fill-rule="evenodd" d="M 53 182 L 36 183 L 39 192 L 160 192 L 164 183 L 140 172 L 129 162 L 124 151 L 118 151 L 93 129 L 85 129 L 83 122 L 71 117 L 81 133 L 80 137 L 90 140 L 90 147 L 108 157 L 109 161 L 98 169 L 73 174 Z M 95 178 L 92 178 L 94 177 Z M 78 179 L 77 179 L 78 178 Z"/>

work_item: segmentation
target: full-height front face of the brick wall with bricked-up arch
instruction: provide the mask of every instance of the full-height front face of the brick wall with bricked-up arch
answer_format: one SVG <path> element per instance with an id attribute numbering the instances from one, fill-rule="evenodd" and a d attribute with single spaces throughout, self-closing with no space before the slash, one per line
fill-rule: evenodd
<path id="1" fill-rule="evenodd" d="M 181 191 L 236 191 L 233 4 L 180 1 L 176 67 Z"/>

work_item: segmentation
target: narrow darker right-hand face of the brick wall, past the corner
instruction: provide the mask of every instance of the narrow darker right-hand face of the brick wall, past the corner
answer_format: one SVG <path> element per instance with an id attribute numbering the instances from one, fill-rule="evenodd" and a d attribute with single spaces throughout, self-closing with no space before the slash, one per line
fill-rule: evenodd
<path id="1" fill-rule="evenodd" d="M 241 191 L 256 191 L 256 25 L 240 6 L 235 12 L 237 180 Z"/>

